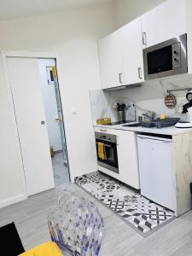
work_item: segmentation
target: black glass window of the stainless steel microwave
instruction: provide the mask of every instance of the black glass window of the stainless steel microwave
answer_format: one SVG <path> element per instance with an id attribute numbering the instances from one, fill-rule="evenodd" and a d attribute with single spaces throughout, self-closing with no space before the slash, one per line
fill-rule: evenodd
<path id="1" fill-rule="evenodd" d="M 148 53 L 148 74 L 172 70 L 172 45 Z"/>

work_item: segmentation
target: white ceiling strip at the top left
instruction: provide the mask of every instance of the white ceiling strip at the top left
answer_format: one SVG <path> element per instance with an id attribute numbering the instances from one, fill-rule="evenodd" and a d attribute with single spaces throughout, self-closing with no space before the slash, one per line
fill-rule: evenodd
<path id="1" fill-rule="evenodd" d="M 0 0 L 0 21 L 44 15 L 113 0 Z"/>

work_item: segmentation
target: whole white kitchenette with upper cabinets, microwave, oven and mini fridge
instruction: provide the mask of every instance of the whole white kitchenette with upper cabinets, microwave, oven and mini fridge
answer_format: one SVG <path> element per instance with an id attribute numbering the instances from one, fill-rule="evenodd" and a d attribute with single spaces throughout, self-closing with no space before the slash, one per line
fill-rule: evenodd
<path id="1" fill-rule="evenodd" d="M 102 90 L 90 90 L 99 173 L 176 217 L 191 209 L 192 38 L 187 4 L 168 0 L 102 38 Z"/>

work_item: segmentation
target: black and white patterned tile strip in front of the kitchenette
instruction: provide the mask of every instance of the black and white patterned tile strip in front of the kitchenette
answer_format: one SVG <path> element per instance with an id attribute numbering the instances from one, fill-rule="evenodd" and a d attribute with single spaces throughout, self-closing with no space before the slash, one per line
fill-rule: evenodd
<path id="1" fill-rule="evenodd" d="M 143 234 L 174 218 L 174 212 L 149 201 L 101 172 L 77 177 L 75 182 Z"/>

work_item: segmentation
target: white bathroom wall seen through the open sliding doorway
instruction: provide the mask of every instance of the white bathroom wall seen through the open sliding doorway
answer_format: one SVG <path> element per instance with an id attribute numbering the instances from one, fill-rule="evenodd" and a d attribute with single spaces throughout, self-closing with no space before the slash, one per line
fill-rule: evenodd
<path id="1" fill-rule="evenodd" d="M 60 124 L 55 121 L 58 117 L 57 102 L 55 96 L 55 84 L 48 83 L 46 67 L 55 66 L 54 59 L 39 59 L 38 67 L 42 80 L 42 93 L 44 98 L 44 111 L 49 136 L 49 146 L 54 150 L 61 150 L 61 131 Z"/>

